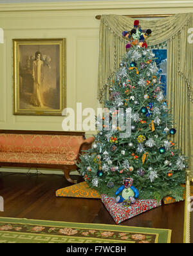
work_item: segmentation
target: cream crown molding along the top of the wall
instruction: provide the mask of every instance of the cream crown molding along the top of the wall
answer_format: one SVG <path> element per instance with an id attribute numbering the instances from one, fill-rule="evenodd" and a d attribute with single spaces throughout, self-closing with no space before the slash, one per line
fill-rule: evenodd
<path id="1" fill-rule="evenodd" d="M 42 12 L 42 11 L 76 11 L 76 10 L 189 10 L 193 8 L 192 0 L 165 0 L 165 1 L 78 1 L 63 3 L 6 3 L 0 4 L 0 12 Z"/>

